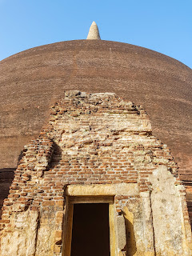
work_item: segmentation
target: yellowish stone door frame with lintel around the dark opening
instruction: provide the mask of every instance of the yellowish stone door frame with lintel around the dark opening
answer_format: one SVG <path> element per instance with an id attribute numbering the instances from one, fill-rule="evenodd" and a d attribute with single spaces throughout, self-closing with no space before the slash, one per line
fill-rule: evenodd
<path id="1" fill-rule="evenodd" d="M 94 186 L 66 186 L 65 190 L 65 214 L 62 232 L 62 256 L 70 256 L 74 204 L 77 203 L 107 203 L 109 204 L 109 226 L 110 226 L 110 256 L 116 255 L 115 240 L 115 209 L 114 193 L 109 190 L 102 190 L 105 185 Z M 80 190 L 79 190 L 80 189 Z M 96 189 L 96 190 L 95 190 Z"/>

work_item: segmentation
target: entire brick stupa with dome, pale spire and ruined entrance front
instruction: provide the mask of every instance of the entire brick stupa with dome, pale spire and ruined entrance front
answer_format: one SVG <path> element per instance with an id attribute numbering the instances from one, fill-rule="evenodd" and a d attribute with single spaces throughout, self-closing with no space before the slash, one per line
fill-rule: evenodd
<path id="1" fill-rule="evenodd" d="M 101 254 L 90 223 L 104 215 L 105 255 L 191 255 L 191 82 L 174 58 L 101 40 L 95 22 L 87 40 L 2 60 L 2 255 L 75 255 L 79 237 Z"/>

